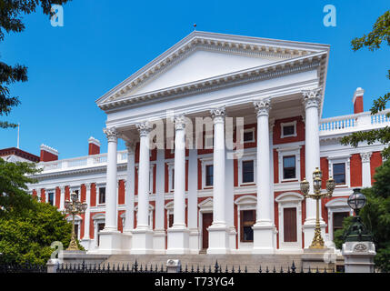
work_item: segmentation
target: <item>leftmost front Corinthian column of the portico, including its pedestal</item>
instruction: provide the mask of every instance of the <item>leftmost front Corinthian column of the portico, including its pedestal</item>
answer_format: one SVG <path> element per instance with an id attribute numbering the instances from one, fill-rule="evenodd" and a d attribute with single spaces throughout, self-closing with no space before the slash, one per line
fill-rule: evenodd
<path id="1" fill-rule="evenodd" d="M 122 253 L 122 234 L 117 228 L 117 137 L 115 127 L 105 128 L 108 141 L 107 174 L 105 186 L 105 229 L 100 232 L 101 254 L 114 255 Z"/>

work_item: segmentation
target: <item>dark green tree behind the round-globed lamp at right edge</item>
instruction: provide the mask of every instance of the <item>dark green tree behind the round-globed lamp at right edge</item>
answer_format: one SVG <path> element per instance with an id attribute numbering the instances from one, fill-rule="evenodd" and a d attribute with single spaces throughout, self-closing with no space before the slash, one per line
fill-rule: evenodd
<path id="1" fill-rule="evenodd" d="M 375 266 L 382 272 L 390 271 L 390 160 L 376 168 L 375 184 L 362 189 L 367 198 L 360 211 L 363 224 L 371 232 L 376 248 Z M 335 246 L 341 248 L 345 232 L 352 223 L 352 217 L 343 221 L 343 229 L 335 232 Z"/>

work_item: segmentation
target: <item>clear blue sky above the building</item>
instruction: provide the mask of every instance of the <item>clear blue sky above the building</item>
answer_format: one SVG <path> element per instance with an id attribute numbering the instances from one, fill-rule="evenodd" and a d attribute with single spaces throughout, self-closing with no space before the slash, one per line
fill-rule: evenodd
<path id="1" fill-rule="evenodd" d="M 328 4 L 336 8 L 335 27 L 323 24 Z M 191 33 L 194 23 L 200 31 L 331 45 L 323 117 L 352 114 L 358 86 L 368 111 L 390 89 L 389 47 L 353 52 L 350 42 L 389 8 L 388 0 L 74 0 L 64 6 L 63 27 L 39 11 L 25 16 L 25 32 L 0 43 L 0 60 L 28 66 L 29 77 L 11 86 L 22 104 L 0 118 L 20 123 L 20 148 L 38 156 L 41 144 L 58 149 L 60 158 L 85 156 L 91 135 L 105 152 L 105 113 L 95 100 Z M 16 146 L 16 135 L 0 129 L 0 148 Z"/>

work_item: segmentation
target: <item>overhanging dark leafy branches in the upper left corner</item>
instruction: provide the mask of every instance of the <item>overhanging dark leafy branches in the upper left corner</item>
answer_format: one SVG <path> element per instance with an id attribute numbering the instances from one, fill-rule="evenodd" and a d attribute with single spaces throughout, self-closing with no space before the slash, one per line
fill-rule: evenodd
<path id="1" fill-rule="evenodd" d="M 5 32 L 20 33 L 25 30 L 22 22 L 23 15 L 35 12 L 41 6 L 45 15 L 50 17 L 51 5 L 63 5 L 70 0 L 0 0 L 0 41 L 5 38 Z M 27 67 L 25 65 L 7 65 L 0 61 L 0 116 L 8 115 L 12 107 L 20 104 L 19 96 L 10 95 L 9 85 L 15 82 L 27 81 Z M 17 125 L 0 121 L 0 128 L 15 127 Z"/>

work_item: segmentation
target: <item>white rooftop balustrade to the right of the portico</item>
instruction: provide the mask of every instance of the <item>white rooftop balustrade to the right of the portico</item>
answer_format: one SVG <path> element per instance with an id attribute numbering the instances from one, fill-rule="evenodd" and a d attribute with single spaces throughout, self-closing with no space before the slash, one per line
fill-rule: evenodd
<path id="1" fill-rule="evenodd" d="M 381 128 L 390 125 L 390 118 L 386 116 L 390 109 L 376 115 L 364 112 L 356 115 L 343 115 L 320 120 L 320 135 L 342 134 L 359 130 Z"/>

